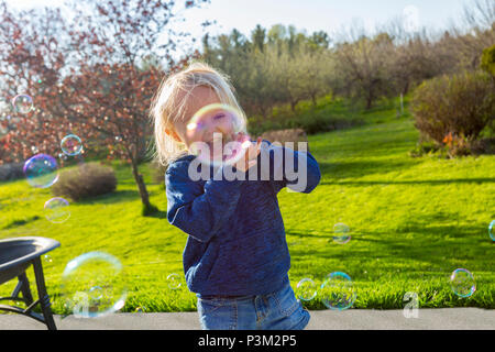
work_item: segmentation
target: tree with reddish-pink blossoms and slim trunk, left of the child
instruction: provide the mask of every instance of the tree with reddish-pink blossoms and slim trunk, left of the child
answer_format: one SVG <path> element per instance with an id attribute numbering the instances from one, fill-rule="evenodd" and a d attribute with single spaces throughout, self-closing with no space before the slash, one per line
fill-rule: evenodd
<path id="1" fill-rule="evenodd" d="M 183 11 L 204 2 L 186 1 Z M 148 212 L 153 207 L 139 163 L 151 135 L 151 99 L 163 76 L 197 53 L 179 62 L 172 57 L 187 37 L 172 25 L 180 16 L 174 1 L 90 0 L 67 7 L 70 23 L 61 9 L 13 13 L 0 4 L 2 94 L 25 92 L 34 102 L 31 112 L 12 111 L 0 121 L 7 131 L 0 136 L 1 162 L 35 152 L 57 155 L 62 139 L 77 134 L 86 152 L 103 150 L 108 158 L 130 164 Z"/>

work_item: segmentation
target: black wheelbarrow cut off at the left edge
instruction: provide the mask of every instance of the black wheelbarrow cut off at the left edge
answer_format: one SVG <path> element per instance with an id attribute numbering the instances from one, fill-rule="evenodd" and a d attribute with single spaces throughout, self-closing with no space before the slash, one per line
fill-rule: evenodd
<path id="1" fill-rule="evenodd" d="M 51 304 L 46 293 L 41 255 L 59 245 L 61 243 L 55 240 L 36 237 L 0 240 L 0 285 L 15 277 L 19 280 L 12 295 L 10 297 L 0 297 L 0 300 L 21 301 L 28 306 L 28 308 L 23 309 L 16 306 L 0 305 L 0 310 L 33 318 L 45 323 L 50 330 L 57 329 L 50 308 Z M 25 271 L 31 264 L 33 265 L 36 279 L 38 296 L 36 300 L 33 300 L 30 283 L 25 275 Z M 22 294 L 22 297 L 19 294 Z M 37 305 L 40 305 L 43 315 L 33 311 Z"/>

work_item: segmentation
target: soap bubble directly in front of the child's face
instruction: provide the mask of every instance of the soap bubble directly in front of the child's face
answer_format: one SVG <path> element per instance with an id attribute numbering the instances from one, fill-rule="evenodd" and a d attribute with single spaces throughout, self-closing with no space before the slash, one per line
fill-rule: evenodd
<path id="1" fill-rule="evenodd" d="M 204 164 L 239 162 L 251 145 L 243 114 L 233 107 L 213 103 L 198 110 L 187 124 L 190 152 Z"/>

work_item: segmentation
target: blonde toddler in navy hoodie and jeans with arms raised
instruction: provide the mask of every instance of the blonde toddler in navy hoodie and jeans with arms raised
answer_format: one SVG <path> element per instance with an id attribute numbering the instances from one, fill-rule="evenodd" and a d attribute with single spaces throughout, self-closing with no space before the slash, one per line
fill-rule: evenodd
<path id="1" fill-rule="evenodd" d="M 257 139 L 233 165 L 200 163 L 211 177 L 190 177 L 197 169 L 196 164 L 191 167 L 197 161 L 194 144 L 210 145 L 211 132 L 233 131 L 226 132 L 231 124 L 220 122 L 228 114 L 211 124 L 215 131 L 190 133 L 188 124 L 210 105 L 232 107 L 245 122 L 233 91 L 228 77 L 202 63 L 162 82 L 151 111 L 156 158 L 168 165 L 167 219 L 188 235 L 184 272 L 189 290 L 197 295 L 202 329 L 300 330 L 310 317 L 289 284 L 290 256 L 277 193 L 284 187 L 310 193 L 320 182 L 316 160 L 308 152 Z M 286 165 L 296 174 L 293 170 L 289 177 Z M 256 177 L 228 179 L 223 177 L 228 167 L 237 175 Z"/>

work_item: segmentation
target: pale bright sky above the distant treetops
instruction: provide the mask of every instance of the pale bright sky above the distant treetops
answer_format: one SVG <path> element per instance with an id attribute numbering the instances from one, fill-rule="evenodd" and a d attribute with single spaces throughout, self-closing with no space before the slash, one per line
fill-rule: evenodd
<path id="1" fill-rule="evenodd" d="M 198 38 L 205 34 L 199 23 L 216 21 L 208 32 L 230 33 L 232 29 L 250 36 L 261 24 L 293 24 L 308 34 L 324 31 L 332 34 L 358 22 L 367 30 L 402 16 L 411 30 L 427 26 L 447 29 L 459 20 L 464 4 L 473 0 L 210 0 L 200 9 L 184 11 L 185 22 L 178 24 Z M 63 0 L 7 0 L 18 9 L 33 6 L 59 6 Z M 183 1 L 177 1 L 183 2 Z"/>

